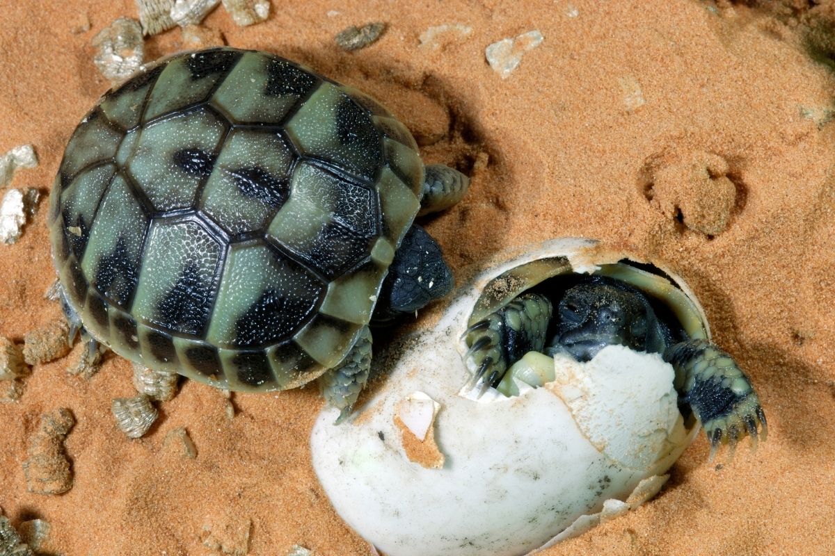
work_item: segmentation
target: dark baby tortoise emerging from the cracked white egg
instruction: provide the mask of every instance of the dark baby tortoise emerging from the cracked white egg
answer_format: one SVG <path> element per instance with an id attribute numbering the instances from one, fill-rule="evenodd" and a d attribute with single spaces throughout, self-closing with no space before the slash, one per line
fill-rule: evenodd
<path id="1" fill-rule="evenodd" d="M 523 361 L 526 353 L 585 362 L 608 345 L 623 345 L 659 353 L 672 365 L 681 413 L 701 421 L 711 458 L 722 443 L 733 448 L 746 435 L 752 443 L 766 437 L 750 379 L 709 341 L 700 310 L 671 278 L 627 260 L 593 274 L 568 272 L 562 259 L 540 259 L 493 281 L 468 321 L 465 359 L 473 384 L 512 395 L 514 380 L 539 387 L 554 379 L 547 365 Z"/>

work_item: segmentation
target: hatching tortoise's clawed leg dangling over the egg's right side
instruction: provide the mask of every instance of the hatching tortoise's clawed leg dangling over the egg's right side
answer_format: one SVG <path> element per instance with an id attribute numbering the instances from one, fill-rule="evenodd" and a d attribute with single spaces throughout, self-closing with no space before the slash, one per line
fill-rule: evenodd
<path id="1" fill-rule="evenodd" d="M 751 380 L 731 355 L 703 339 L 691 339 L 667 348 L 665 361 L 676 370 L 676 390 L 690 405 L 711 441 L 713 458 L 720 444 L 736 443 L 751 436 L 765 440 L 766 414 Z"/>

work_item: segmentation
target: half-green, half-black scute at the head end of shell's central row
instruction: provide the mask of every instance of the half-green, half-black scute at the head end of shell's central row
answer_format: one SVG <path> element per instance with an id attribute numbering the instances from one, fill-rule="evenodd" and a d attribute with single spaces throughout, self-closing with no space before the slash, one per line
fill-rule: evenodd
<path id="1" fill-rule="evenodd" d="M 299 163 L 290 200 L 268 233 L 330 280 L 367 260 L 379 234 L 378 214 L 376 193 Z"/>

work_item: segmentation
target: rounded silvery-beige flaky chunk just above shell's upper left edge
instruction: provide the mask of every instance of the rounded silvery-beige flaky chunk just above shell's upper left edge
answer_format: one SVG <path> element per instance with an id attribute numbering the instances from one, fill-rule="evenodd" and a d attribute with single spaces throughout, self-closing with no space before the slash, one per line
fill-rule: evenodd
<path id="1" fill-rule="evenodd" d="M 142 66 L 142 27 L 131 18 L 119 18 L 93 38 L 96 68 L 111 83 L 122 83 Z"/>

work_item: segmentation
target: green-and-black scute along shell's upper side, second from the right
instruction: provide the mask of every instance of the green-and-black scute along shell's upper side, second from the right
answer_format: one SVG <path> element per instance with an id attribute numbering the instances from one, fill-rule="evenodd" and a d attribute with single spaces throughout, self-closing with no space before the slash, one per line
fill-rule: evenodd
<path id="1" fill-rule="evenodd" d="M 245 53 L 211 99 L 233 123 L 281 123 L 320 79 L 295 63 Z"/>

